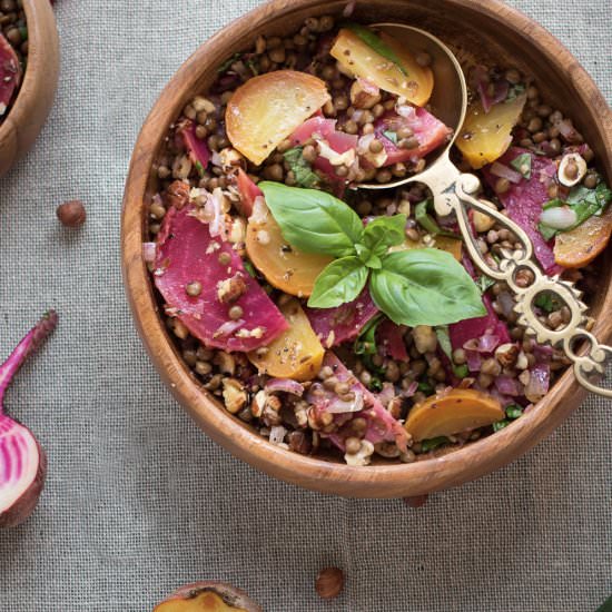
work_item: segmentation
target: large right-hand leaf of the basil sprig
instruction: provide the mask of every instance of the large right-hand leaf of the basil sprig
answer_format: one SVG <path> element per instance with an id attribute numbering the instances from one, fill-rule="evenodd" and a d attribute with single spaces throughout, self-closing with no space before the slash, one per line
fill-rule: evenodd
<path id="1" fill-rule="evenodd" d="M 486 315 L 476 284 L 455 258 L 435 248 L 392 253 L 373 270 L 376 306 L 398 325 L 445 325 Z"/>

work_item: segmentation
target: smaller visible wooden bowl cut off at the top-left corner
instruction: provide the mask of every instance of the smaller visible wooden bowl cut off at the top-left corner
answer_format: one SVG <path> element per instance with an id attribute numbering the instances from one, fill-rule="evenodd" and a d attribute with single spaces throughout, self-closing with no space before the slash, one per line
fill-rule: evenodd
<path id="1" fill-rule="evenodd" d="M 0 177 L 32 147 L 56 96 L 59 38 L 49 0 L 23 0 L 28 26 L 28 65 L 7 118 L 0 124 Z"/>

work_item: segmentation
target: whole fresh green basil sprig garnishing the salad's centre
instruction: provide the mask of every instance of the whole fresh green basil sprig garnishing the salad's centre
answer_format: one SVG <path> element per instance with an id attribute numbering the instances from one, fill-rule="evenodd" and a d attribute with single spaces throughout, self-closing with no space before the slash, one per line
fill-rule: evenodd
<path id="1" fill-rule="evenodd" d="M 290 245 L 336 258 L 316 278 L 308 306 L 352 302 L 368 283 L 376 306 L 398 325 L 445 325 L 486 314 L 475 283 L 448 253 L 388 253 L 404 241 L 405 215 L 364 227 L 349 206 L 325 191 L 270 181 L 259 188 Z"/>

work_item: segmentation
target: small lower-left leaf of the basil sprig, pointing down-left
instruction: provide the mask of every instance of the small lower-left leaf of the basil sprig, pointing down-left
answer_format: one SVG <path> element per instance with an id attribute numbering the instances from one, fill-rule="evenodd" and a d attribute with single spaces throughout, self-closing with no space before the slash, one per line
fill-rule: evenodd
<path id="1" fill-rule="evenodd" d="M 334 308 L 353 302 L 364 288 L 367 268 L 358 257 L 343 257 L 328 264 L 317 276 L 308 299 L 312 308 Z"/>

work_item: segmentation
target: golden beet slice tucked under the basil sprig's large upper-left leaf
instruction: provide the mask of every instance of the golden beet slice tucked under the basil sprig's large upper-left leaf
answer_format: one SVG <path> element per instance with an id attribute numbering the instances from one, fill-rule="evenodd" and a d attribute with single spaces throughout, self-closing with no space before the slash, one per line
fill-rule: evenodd
<path id="1" fill-rule="evenodd" d="M 253 265 L 270 285 L 298 297 L 313 293 L 316 277 L 332 261 L 332 257 L 292 247 L 269 210 L 261 220 L 249 219 L 246 247 Z"/>

